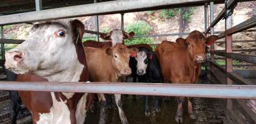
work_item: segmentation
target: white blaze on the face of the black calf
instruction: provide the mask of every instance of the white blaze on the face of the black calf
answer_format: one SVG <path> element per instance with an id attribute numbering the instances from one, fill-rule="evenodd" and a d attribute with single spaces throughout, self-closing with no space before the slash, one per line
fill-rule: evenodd
<path id="1" fill-rule="evenodd" d="M 135 57 L 137 60 L 137 74 L 143 75 L 146 74 L 146 68 L 148 67 L 148 58 L 145 51 L 139 51 Z"/>

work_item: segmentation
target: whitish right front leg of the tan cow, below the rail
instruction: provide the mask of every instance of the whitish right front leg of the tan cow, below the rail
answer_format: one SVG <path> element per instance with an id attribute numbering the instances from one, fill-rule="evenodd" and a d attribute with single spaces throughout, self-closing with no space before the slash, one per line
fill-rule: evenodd
<path id="1" fill-rule="evenodd" d="M 116 105 L 118 107 L 121 124 L 128 124 L 128 120 L 125 116 L 125 112 L 123 112 L 123 103 L 121 101 L 121 94 L 115 94 L 115 101 L 116 101 Z"/>

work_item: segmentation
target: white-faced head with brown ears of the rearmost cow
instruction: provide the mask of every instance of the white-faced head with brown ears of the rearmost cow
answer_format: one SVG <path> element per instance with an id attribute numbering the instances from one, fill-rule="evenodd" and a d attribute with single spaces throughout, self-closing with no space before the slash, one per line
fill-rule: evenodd
<path id="1" fill-rule="evenodd" d="M 127 32 L 125 32 L 123 30 L 115 29 L 115 30 L 112 30 L 109 33 L 102 33 L 102 34 L 100 34 L 100 37 L 103 40 L 111 40 L 112 46 L 115 46 L 116 43 L 123 43 L 123 44 L 125 44 L 125 39 L 133 38 L 134 35 L 135 35 L 134 32 L 127 33 Z"/>

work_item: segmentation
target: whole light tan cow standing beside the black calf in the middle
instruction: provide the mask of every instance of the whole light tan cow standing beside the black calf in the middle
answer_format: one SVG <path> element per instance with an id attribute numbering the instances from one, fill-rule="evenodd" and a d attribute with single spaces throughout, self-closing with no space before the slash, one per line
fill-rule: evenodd
<path id="1" fill-rule="evenodd" d="M 129 67 L 130 55 L 135 56 L 136 48 L 127 48 L 121 43 L 114 47 L 93 48 L 85 47 L 90 81 L 95 82 L 120 82 L 122 76 L 131 74 Z M 105 123 L 104 94 L 98 94 L 100 101 L 100 122 Z M 126 124 L 128 120 L 123 112 L 121 94 L 115 94 L 115 102 L 118 107 L 121 123 Z"/>

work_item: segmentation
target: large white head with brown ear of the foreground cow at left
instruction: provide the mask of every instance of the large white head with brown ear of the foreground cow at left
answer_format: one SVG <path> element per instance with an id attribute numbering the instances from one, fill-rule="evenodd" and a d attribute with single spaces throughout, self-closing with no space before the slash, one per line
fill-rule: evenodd
<path id="1" fill-rule="evenodd" d="M 6 53 L 5 66 L 17 74 L 51 76 L 72 69 L 79 62 L 86 64 L 81 42 L 83 29 L 79 20 L 35 24 L 29 38 Z"/>

